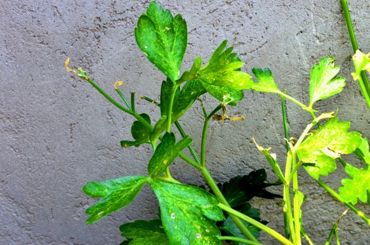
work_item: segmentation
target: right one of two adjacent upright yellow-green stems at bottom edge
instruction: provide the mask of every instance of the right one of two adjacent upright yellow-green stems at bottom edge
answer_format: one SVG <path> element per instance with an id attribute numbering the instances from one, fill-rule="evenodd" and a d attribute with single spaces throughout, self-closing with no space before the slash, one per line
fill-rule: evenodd
<path id="1" fill-rule="evenodd" d="M 296 156 L 295 152 L 292 153 L 292 167 L 293 170 L 296 167 Z M 293 208 L 294 208 L 294 231 L 296 244 L 302 244 L 300 239 L 300 222 L 299 222 L 299 195 L 298 195 L 298 173 L 293 173 Z"/>

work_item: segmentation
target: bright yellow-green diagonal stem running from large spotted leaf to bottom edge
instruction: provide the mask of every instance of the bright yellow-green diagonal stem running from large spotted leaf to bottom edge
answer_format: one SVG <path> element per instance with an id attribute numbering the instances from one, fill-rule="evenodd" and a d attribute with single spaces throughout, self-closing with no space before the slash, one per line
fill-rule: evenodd
<path id="1" fill-rule="evenodd" d="M 270 234 L 271 236 L 273 236 L 274 238 L 276 238 L 277 240 L 281 241 L 283 244 L 287 244 L 287 245 L 293 245 L 293 243 L 291 241 L 289 241 L 287 238 L 285 238 L 284 236 L 282 236 L 281 234 L 277 233 L 276 231 L 272 230 L 271 228 L 259 223 L 257 220 L 255 219 L 252 219 L 251 217 L 248 217 L 247 215 L 245 214 L 242 214 L 222 203 L 219 203 L 218 206 L 226 211 L 227 213 L 229 214 L 232 214 L 232 215 L 235 215 L 243 220 L 245 220 L 246 222 L 248 222 L 249 224 L 251 224 L 252 226 L 255 226 L 265 232 L 267 232 L 268 234 Z"/>

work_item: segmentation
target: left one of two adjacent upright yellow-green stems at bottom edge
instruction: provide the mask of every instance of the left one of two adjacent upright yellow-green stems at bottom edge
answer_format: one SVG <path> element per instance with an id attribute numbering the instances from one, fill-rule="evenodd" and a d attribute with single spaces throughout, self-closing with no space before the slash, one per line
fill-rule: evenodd
<path id="1" fill-rule="evenodd" d="M 290 169 L 292 164 L 292 154 L 291 151 L 287 154 L 287 162 L 285 166 L 285 179 L 288 179 Z M 292 205 L 290 201 L 290 187 L 289 182 L 284 185 L 284 194 L 283 194 L 283 203 L 284 203 L 284 217 L 287 217 L 287 220 L 284 220 L 285 224 L 288 224 L 290 230 L 290 238 L 292 239 L 293 243 L 295 243 L 295 230 L 293 225 L 293 213 L 292 213 Z"/>

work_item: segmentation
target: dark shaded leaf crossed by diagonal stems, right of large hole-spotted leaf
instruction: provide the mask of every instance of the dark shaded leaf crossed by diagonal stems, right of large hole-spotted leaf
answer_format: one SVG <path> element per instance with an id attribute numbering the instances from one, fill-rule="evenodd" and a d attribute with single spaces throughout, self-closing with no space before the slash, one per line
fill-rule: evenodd
<path id="1" fill-rule="evenodd" d="M 262 223 L 264 225 L 266 225 L 268 223 L 265 220 L 261 221 L 260 212 L 256 208 L 251 208 L 249 203 L 244 205 L 242 210 L 239 210 L 239 212 L 241 212 L 241 213 L 259 221 L 260 223 Z M 248 222 L 246 222 L 244 220 L 242 220 L 242 222 L 248 228 L 248 230 L 252 233 L 252 235 L 254 237 L 258 238 L 260 236 L 261 229 L 250 225 Z M 243 235 L 243 233 L 239 230 L 239 228 L 235 225 L 233 219 L 231 219 L 230 216 L 228 216 L 225 219 L 225 221 L 222 223 L 222 225 L 219 228 L 222 232 L 224 232 L 228 236 L 236 236 L 236 237 L 240 237 L 240 238 L 246 238 Z M 241 244 L 244 245 L 245 244 L 245 243 L 242 243 L 242 242 L 236 242 L 236 241 L 233 241 L 233 242 L 234 242 L 234 245 L 241 245 Z"/>

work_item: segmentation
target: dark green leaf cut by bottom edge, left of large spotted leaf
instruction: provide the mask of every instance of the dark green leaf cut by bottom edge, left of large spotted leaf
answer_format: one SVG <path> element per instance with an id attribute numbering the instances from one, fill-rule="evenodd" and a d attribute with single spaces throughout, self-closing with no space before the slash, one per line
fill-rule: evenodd
<path id="1" fill-rule="evenodd" d="M 128 245 L 170 245 L 165 229 L 160 219 L 135 220 L 120 226 L 122 236 L 133 238 Z"/>

